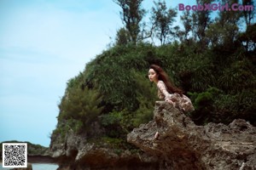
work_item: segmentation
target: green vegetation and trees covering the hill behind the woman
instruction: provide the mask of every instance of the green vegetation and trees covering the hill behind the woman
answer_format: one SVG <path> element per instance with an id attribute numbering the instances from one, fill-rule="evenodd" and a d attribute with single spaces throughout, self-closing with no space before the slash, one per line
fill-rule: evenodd
<path id="1" fill-rule="evenodd" d="M 247 18 L 247 12 L 223 12 L 214 20 L 210 13 L 186 12 L 181 17 L 183 30 L 168 26 L 168 23 L 173 24 L 173 10 L 169 10 L 169 15 L 161 15 L 158 10 L 165 8 L 167 11 L 165 3 L 154 3 L 152 26 L 157 23 L 159 27 L 143 37 L 142 1 L 115 2 L 123 5 L 121 8 L 127 14 L 122 20 L 134 19 L 134 22 L 125 22 L 113 46 L 97 55 L 79 76 L 67 82 L 52 138 L 61 135 L 65 139 L 67 133 L 73 131 L 86 133 L 90 141 L 112 144 L 117 152 L 125 148 L 132 150 L 131 145 L 125 144 L 126 134 L 152 120 L 157 100 L 156 87 L 147 76 L 151 64 L 164 68 L 190 97 L 195 111 L 189 116 L 196 124 L 229 123 L 243 118 L 256 125 L 256 30 L 253 29 L 256 24 L 251 22 L 252 17 Z M 135 8 L 131 2 L 138 3 L 137 10 L 131 10 Z M 137 19 L 129 15 L 136 11 Z M 158 16 L 165 19 L 163 25 Z M 239 31 L 239 20 L 247 20 L 246 31 Z M 163 33 L 160 33 L 160 26 L 165 28 Z M 155 35 L 161 45 L 147 42 L 148 35 L 153 42 Z M 101 137 L 96 136 L 99 133 L 91 133 L 95 122 L 104 129 Z"/>

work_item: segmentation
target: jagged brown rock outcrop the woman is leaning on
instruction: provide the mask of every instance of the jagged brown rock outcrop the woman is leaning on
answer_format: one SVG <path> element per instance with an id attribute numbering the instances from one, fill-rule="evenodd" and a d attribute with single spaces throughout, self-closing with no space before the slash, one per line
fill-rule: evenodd
<path id="1" fill-rule="evenodd" d="M 157 157 L 159 169 L 256 169 L 256 127 L 241 119 L 196 126 L 166 102 L 156 102 L 154 120 L 134 129 L 127 140 Z"/>

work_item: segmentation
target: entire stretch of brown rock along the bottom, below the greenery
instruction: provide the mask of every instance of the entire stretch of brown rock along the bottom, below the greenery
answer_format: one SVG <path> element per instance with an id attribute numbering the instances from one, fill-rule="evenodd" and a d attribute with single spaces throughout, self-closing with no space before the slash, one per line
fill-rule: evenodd
<path id="1" fill-rule="evenodd" d="M 154 139 L 156 132 L 159 139 Z M 241 119 L 230 125 L 197 126 L 166 102 L 156 102 L 153 121 L 135 128 L 127 141 L 143 151 L 116 150 L 101 140 L 72 132 L 65 139 L 60 134 L 52 137 L 50 149 L 58 170 L 256 169 L 256 127 Z"/>

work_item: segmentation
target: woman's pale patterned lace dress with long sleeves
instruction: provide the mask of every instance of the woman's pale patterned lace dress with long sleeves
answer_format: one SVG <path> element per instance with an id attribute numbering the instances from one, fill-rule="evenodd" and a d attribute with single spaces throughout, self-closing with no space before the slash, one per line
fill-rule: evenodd
<path id="1" fill-rule="evenodd" d="M 194 111 L 194 106 L 191 100 L 186 95 L 180 95 L 177 93 L 169 94 L 166 89 L 166 84 L 163 81 L 157 82 L 158 88 L 158 97 L 160 99 L 165 99 L 168 103 L 174 105 L 179 110 L 183 110 L 185 112 Z"/>

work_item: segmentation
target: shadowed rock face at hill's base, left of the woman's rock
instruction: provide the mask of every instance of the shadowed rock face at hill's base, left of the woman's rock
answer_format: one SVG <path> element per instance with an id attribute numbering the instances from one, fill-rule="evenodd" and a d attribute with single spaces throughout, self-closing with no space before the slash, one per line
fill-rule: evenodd
<path id="1" fill-rule="evenodd" d="M 131 153 L 110 147 L 102 140 L 90 139 L 86 134 L 69 132 L 51 141 L 50 149 L 57 161 L 58 170 L 84 169 L 156 169 L 157 159 L 145 153 Z"/>

